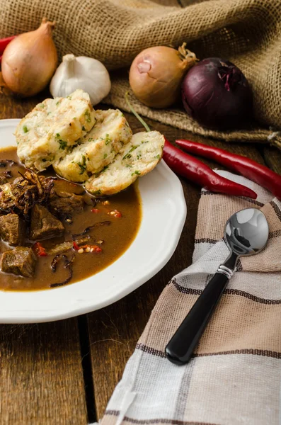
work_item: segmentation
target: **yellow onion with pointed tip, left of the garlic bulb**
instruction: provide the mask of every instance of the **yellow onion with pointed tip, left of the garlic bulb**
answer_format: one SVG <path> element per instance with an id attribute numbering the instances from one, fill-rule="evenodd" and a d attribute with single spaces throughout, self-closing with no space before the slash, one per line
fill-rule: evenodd
<path id="1" fill-rule="evenodd" d="M 37 30 L 18 35 L 4 50 L 2 76 L 13 93 L 33 96 L 49 83 L 57 67 L 54 27 L 55 22 L 43 18 Z"/>

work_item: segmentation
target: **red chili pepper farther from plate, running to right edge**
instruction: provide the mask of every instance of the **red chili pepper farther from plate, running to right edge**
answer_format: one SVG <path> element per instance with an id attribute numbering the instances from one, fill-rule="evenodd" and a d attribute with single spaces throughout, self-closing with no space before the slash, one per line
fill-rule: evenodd
<path id="1" fill-rule="evenodd" d="M 190 140 L 176 140 L 176 142 L 180 147 L 192 154 L 213 159 L 219 164 L 247 177 L 247 179 L 255 181 L 263 188 L 268 189 L 277 198 L 281 199 L 281 176 L 268 169 L 267 166 L 258 164 L 253 159 L 231 154 L 231 152 L 217 147 L 202 145 L 201 143 L 191 142 Z"/>

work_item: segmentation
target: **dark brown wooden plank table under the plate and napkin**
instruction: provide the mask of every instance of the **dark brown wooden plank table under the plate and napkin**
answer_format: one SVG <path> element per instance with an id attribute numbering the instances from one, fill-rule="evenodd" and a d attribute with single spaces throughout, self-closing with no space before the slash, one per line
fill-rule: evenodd
<path id="1" fill-rule="evenodd" d="M 45 97 L 20 101 L 0 94 L 0 118 L 22 118 Z M 125 115 L 133 132 L 142 130 L 133 115 Z M 281 153 L 275 148 L 229 145 L 147 122 L 169 140 L 202 140 L 267 164 L 281 174 Z M 83 425 L 101 419 L 161 291 L 191 263 L 200 188 L 182 183 L 188 207 L 183 234 L 175 254 L 154 278 L 91 314 L 45 324 L 0 325 L 1 425 Z"/>

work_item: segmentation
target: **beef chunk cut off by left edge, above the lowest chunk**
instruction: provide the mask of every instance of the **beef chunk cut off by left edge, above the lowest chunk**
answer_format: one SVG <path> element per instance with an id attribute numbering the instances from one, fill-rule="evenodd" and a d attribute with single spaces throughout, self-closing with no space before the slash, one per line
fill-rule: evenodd
<path id="1" fill-rule="evenodd" d="M 21 244 L 25 237 L 25 222 L 16 214 L 1 215 L 0 236 L 8 244 Z"/>

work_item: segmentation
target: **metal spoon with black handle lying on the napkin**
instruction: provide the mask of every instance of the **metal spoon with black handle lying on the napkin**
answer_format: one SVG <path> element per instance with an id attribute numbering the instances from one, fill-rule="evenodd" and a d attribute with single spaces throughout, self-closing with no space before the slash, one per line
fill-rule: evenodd
<path id="1" fill-rule="evenodd" d="M 166 346 L 166 357 L 177 365 L 190 361 L 193 350 L 234 273 L 239 256 L 258 254 L 268 242 L 268 221 L 265 215 L 256 208 L 246 208 L 231 215 L 224 228 L 224 240 L 230 249 L 229 257 L 219 266 Z"/>

